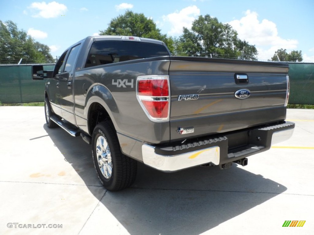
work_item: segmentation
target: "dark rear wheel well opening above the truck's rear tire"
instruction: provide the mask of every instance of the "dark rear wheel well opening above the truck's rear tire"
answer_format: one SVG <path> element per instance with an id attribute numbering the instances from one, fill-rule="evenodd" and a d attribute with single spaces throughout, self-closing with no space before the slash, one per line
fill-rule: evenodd
<path id="1" fill-rule="evenodd" d="M 88 129 L 89 133 L 93 133 L 95 126 L 105 120 L 111 120 L 106 109 L 99 103 L 92 103 L 89 107 Z"/>

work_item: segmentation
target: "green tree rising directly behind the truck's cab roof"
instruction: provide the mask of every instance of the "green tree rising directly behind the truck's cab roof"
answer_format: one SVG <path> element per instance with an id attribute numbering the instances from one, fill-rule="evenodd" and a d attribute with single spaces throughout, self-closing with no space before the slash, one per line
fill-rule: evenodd
<path id="1" fill-rule="evenodd" d="M 100 30 L 100 35 L 124 35 L 150 38 L 163 41 L 171 53 L 174 51 L 173 39 L 161 34 L 154 21 L 143 13 L 126 11 L 124 15 L 113 18 L 107 29 Z"/>

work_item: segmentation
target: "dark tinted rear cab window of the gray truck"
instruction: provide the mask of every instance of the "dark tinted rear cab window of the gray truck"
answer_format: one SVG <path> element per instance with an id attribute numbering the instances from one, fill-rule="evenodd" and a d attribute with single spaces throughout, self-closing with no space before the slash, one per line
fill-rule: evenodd
<path id="1" fill-rule="evenodd" d="M 85 68 L 169 55 L 160 44 L 132 41 L 96 41 L 91 46 Z"/>

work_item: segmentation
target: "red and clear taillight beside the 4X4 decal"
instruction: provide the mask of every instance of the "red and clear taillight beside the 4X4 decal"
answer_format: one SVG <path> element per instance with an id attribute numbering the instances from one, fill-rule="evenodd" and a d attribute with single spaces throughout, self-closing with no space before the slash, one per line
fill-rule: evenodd
<path id="1" fill-rule="evenodd" d="M 136 84 L 136 96 L 147 117 L 153 122 L 169 121 L 169 76 L 138 76 Z"/>

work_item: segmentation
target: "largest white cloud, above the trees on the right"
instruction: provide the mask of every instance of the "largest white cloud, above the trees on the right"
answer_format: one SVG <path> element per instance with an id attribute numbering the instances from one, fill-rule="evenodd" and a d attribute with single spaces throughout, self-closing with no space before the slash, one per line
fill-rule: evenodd
<path id="1" fill-rule="evenodd" d="M 295 50 L 299 43 L 295 39 L 283 39 L 278 35 L 277 25 L 263 19 L 261 22 L 258 20 L 258 14 L 247 10 L 245 16 L 240 20 L 233 20 L 228 22 L 233 29 L 238 32 L 238 37 L 241 40 L 246 40 L 250 44 L 255 44 L 258 52 L 259 59 L 266 57 L 270 59 L 274 52 L 280 48 Z M 267 60 L 267 59 L 266 59 Z"/>

